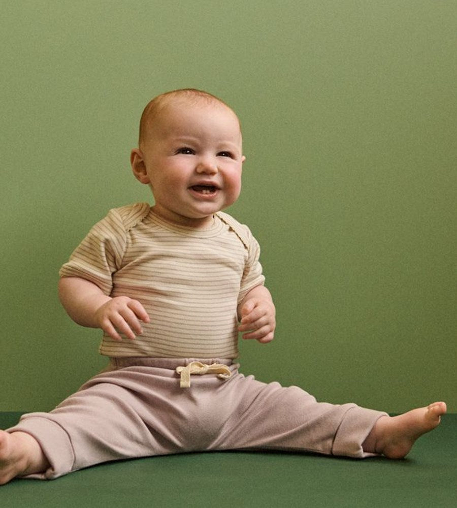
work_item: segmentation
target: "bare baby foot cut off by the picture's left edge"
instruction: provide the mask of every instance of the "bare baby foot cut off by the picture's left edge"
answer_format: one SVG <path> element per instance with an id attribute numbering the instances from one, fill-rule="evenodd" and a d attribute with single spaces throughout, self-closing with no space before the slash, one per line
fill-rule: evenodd
<path id="1" fill-rule="evenodd" d="M 26 474 L 41 473 L 49 463 L 38 441 L 25 432 L 0 430 L 0 485 Z"/>

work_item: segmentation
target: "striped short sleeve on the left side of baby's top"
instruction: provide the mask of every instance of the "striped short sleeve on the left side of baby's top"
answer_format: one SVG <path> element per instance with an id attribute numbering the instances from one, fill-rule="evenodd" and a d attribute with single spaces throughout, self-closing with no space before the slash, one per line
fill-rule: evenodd
<path id="1" fill-rule="evenodd" d="M 59 275 L 89 280 L 109 295 L 112 275 L 120 267 L 125 245 L 125 226 L 118 210 L 113 209 L 89 231 Z"/>

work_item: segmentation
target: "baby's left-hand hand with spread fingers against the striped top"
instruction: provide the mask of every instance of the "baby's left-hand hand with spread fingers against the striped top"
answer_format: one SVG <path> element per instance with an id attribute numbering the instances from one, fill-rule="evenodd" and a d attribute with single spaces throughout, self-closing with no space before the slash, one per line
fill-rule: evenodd
<path id="1" fill-rule="evenodd" d="M 116 296 L 95 311 L 95 320 L 99 328 L 114 340 L 122 340 L 118 332 L 134 340 L 143 333 L 140 321 L 149 323 L 149 316 L 138 300 Z"/>

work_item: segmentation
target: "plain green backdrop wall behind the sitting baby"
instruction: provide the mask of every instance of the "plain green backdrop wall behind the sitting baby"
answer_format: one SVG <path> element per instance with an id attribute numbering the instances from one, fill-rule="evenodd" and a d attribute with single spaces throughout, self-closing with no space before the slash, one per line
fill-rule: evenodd
<path id="1" fill-rule="evenodd" d="M 2 5 L 0 410 L 48 410 L 101 369 L 57 272 L 109 208 L 143 107 L 206 89 L 239 114 L 231 213 L 263 247 L 276 339 L 245 373 L 320 400 L 457 411 L 457 4 L 17 1 Z"/>

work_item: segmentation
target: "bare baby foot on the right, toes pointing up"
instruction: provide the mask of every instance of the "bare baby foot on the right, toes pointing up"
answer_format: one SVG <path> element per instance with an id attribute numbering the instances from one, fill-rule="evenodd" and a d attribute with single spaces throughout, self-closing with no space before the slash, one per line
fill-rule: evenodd
<path id="1" fill-rule="evenodd" d="M 435 402 L 395 417 L 381 417 L 363 443 L 369 453 L 379 453 L 390 459 L 402 459 L 415 440 L 433 430 L 446 412 L 444 402 Z"/>

